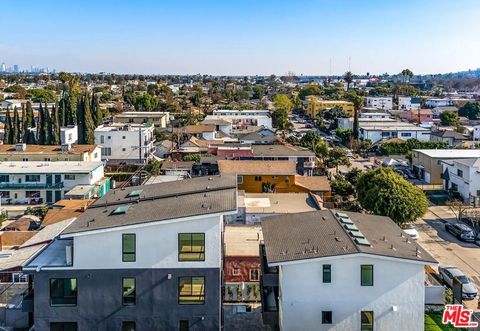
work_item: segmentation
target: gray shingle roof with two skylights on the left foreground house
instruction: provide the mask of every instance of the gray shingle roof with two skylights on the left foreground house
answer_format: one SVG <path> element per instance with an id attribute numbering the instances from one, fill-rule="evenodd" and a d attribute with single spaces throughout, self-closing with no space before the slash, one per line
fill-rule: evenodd
<path id="1" fill-rule="evenodd" d="M 221 175 L 111 190 L 62 235 L 235 211 L 236 188 L 236 176 Z M 133 191 L 139 196 L 132 197 Z M 128 206 L 124 213 L 113 213 L 122 206 Z"/>

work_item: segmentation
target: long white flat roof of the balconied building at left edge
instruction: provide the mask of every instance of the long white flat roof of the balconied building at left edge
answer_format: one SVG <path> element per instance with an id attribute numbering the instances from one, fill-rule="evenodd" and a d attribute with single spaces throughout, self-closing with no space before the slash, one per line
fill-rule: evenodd
<path id="1" fill-rule="evenodd" d="M 79 161 L 3 161 L 0 162 L 2 174 L 86 174 L 98 167 L 103 167 L 102 162 L 79 162 Z"/>

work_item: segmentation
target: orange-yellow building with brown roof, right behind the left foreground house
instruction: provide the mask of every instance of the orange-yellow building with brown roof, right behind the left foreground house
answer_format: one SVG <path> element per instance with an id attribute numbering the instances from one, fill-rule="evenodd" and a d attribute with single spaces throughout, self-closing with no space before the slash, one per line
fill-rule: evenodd
<path id="1" fill-rule="evenodd" d="M 247 193 L 316 193 L 330 196 L 325 176 L 300 176 L 295 161 L 219 160 L 220 174 L 236 174 L 239 190 Z"/>

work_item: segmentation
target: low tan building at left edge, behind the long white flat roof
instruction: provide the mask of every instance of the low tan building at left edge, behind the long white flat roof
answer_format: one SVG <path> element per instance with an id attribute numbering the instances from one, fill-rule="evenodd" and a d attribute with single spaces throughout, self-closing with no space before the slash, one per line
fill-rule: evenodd
<path id="1" fill-rule="evenodd" d="M 0 161 L 100 162 L 99 145 L 0 145 Z"/>

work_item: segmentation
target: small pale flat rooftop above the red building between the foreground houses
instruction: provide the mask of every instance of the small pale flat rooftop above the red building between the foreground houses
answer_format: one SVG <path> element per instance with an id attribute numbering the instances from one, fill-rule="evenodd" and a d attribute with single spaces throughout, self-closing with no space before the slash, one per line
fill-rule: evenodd
<path id="1" fill-rule="evenodd" d="M 223 235 L 225 256 L 259 256 L 261 240 L 263 232 L 260 224 L 227 224 Z"/>

